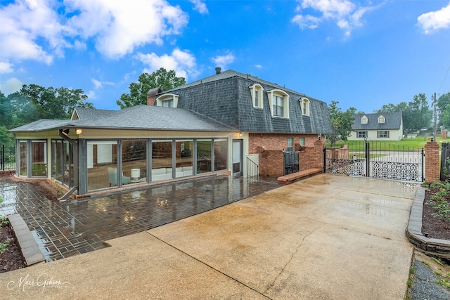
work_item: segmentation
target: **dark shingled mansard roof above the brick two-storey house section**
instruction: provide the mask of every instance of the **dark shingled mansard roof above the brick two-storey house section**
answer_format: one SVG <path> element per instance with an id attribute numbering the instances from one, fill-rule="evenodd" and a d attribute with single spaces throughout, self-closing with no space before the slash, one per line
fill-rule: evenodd
<path id="1" fill-rule="evenodd" d="M 250 86 L 263 89 L 263 109 L 252 105 Z M 289 95 L 289 119 L 271 117 L 267 91 L 279 89 Z M 190 84 L 159 93 L 178 95 L 178 107 L 198 112 L 233 126 L 239 131 L 253 133 L 332 133 L 328 107 L 325 102 L 306 96 L 284 86 L 233 70 L 226 70 Z M 299 100 L 307 98 L 309 116 L 302 115 Z"/>

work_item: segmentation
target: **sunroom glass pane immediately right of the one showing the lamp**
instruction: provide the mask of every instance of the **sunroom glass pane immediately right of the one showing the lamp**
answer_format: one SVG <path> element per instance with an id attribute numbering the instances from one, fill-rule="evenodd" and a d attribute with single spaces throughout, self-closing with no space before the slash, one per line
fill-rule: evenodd
<path id="1" fill-rule="evenodd" d="M 172 179 L 172 141 L 152 143 L 152 181 Z"/>

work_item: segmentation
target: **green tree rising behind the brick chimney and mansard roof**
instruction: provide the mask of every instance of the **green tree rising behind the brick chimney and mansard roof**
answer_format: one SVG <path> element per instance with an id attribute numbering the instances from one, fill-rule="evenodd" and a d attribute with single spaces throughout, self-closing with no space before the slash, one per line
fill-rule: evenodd
<path id="1" fill-rule="evenodd" d="M 116 100 L 116 103 L 120 106 L 121 110 L 139 104 L 147 104 L 147 93 L 149 89 L 160 86 L 163 91 L 168 91 L 169 89 L 174 89 L 184 84 L 186 84 L 184 77 L 176 77 L 174 70 L 167 72 L 162 67 L 152 74 L 141 74 L 138 82 L 131 82 L 129 84 L 129 93 L 122 93 L 120 100 Z"/>

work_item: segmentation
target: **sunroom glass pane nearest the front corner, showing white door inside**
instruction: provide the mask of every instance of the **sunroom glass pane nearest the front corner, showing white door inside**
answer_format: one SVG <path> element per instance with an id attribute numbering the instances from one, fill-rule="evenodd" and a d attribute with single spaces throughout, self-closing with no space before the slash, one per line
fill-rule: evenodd
<path id="1" fill-rule="evenodd" d="M 122 176 L 122 184 L 130 182 Z M 98 190 L 117 186 L 117 141 L 87 143 L 87 189 Z"/>

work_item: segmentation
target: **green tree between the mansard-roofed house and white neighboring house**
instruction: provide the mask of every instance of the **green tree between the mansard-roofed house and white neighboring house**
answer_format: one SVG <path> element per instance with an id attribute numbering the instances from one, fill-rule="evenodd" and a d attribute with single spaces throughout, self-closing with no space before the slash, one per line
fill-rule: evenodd
<path id="1" fill-rule="evenodd" d="M 340 107 L 338 107 L 338 104 L 338 101 L 331 101 L 328 108 L 334 131 L 334 133 L 327 135 L 327 139 L 330 142 L 330 147 L 333 147 L 333 145 L 340 139 L 347 141 L 350 132 L 352 132 L 352 124 L 354 121 L 353 115 L 356 112 L 356 108 L 354 107 L 349 107 L 345 112 L 342 112 Z"/>

